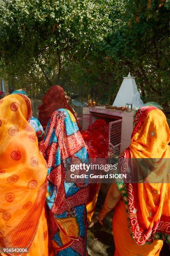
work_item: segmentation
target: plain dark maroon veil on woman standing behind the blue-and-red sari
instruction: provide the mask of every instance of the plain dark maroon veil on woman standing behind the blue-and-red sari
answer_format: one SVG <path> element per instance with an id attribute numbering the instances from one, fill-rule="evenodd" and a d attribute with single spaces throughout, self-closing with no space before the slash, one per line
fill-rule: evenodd
<path id="1" fill-rule="evenodd" d="M 67 110 L 70 110 L 70 112 L 74 115 L 74 111 L 70 107 L 70 105 L 67 103 L 67 100 L 65 98 L 65 93 L 62 87 L 59 85 L 53 85 L 45 94 L 45 96 L 42 99 L 42 105 L 38 108 L 40 110 L 38 119 L 40 120 L 40 123 L 44 130 L 47 127 L 48 121 L 50 120 L 50 117 L 52 113 L 60 108 L 65 108 Z M 75 117 L 76 122 L 77 118 Z M 77 122 L 78 128 L 80 129 L 80 125 Z"/>

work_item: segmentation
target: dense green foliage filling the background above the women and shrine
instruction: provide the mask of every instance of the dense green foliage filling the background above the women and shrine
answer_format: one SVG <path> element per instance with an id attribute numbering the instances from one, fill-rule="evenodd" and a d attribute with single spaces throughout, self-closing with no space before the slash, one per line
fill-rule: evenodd
<path id="1" fill-rule="evenodd" d="M 113 102 L 122 77 L 170 102 L 170 0 L 0 0 L 0 78 Z"/>

